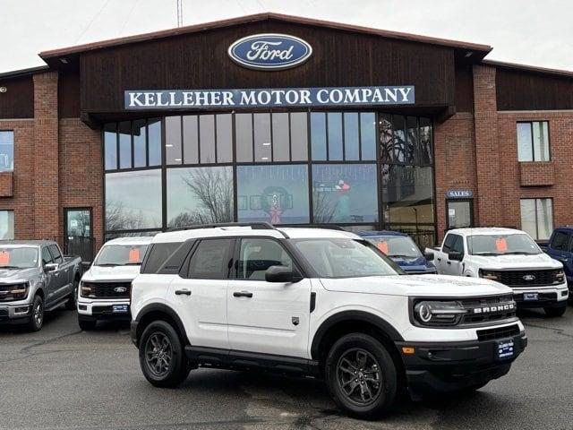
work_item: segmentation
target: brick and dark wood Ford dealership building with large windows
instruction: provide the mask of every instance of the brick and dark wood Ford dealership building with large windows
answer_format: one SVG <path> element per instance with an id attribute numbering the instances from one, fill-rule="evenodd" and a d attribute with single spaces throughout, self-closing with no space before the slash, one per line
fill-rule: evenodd
<path id="1" fill-rule="evenodd" d="M 0 74 L 0 236 L 86 259 L 234 220 L 543 240 L 573 224 L 573 73 L 491 50 L 262 13 L 42 52 Z"/>

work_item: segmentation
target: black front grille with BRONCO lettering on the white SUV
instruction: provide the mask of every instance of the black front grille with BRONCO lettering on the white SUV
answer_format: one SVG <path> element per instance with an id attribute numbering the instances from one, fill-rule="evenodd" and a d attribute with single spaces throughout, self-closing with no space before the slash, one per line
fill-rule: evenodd
<path id="1" fill-rule="evenodd" d="M 515 317 L 517 310 L 512 296 L 471 297 L 462 299 L 461 304 L 467 310 L 461 323 L 467 325 L 507 320 Z M 492 307 L 496 309 L 492 311 Z M 480 312 L 476 313 L 475 309 Z"/>

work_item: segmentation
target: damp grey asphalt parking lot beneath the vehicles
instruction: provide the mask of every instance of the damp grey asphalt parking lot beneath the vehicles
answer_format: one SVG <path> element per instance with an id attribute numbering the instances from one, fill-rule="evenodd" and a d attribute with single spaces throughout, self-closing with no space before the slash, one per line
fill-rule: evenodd
<path id="1" fill-rule="evenodd" d="M 37 333 L 0 328 L 0 428 L 571 429 L 573 307 L 562 318 L 520 316 L 529 347 L 507 376 L 363 422 L 339 415 L 312 379 L 201 369 L 179 389 L 153 388 L 129 324 L 82 332 L 75 313 L 56 311 Z"/>

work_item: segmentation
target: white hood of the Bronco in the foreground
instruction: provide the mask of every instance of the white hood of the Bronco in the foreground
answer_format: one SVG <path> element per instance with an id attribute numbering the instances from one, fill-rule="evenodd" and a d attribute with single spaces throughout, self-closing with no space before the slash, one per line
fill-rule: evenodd
<path id="1" fill-rule="evenodd" d="M 511 288 L 493 280 L 449 275 L 321 278 L 321 283 L 330 291 L 390 296 L 474 297 L 513 293 Z"/>

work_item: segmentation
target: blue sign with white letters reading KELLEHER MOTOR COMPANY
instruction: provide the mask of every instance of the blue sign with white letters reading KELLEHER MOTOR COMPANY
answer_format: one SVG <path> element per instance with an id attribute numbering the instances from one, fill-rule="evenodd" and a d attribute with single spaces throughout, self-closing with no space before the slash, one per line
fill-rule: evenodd
<path id="1" fill-rule="evenodd" d="M 414 85 L 231 90 L 126 90 L 125 109 L 411 105 Z"/>

